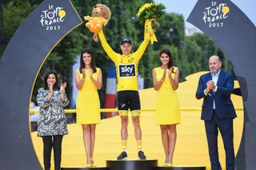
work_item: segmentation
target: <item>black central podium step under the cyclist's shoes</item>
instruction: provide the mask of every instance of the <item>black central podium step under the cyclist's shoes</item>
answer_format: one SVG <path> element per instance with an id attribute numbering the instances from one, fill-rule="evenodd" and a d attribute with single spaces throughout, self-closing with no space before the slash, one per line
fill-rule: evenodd
<path id="1" fill-rule="evenodd" d="M 154 170 L 158 160 L 106 160 L 109 170 Z"/>

